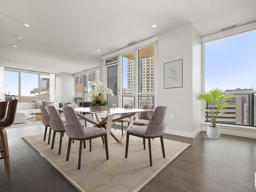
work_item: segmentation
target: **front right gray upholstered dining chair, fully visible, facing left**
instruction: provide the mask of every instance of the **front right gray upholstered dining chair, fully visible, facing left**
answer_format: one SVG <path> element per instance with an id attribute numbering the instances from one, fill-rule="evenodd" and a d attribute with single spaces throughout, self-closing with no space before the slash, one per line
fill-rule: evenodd
<path id="1" fill-rule="evenodd" d="M 126 135 L 126 146 L 125 146 L 125 158 L 128 155 L 129 136 L 141 137 L 144 140 L 145 150 L 145 139 L 148 139 L 148 151 L 150 153 L 150 166 L 152 166 L 152 154 L 151 154 L 151 140 L 153 138 L 160 137 L 163 157 L 165 157 L 163 134 L 165 130 L 164 117 L 167 106 L 157 106 L 155 112 L 150 120 L 150 123 L 145 127 L 134 127 L 127 131 Z"/>

